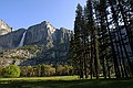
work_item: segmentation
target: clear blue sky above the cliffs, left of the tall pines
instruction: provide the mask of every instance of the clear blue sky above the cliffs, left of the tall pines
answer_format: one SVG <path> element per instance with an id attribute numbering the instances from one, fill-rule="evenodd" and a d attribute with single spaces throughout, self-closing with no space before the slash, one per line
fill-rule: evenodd
<path id="1" fill-rule="evenodd" d="M 49 21 L 54 28 L 72 30 L 76 4 L 86 0 L 1 0 L 0 19 L 13 29 Z"/>

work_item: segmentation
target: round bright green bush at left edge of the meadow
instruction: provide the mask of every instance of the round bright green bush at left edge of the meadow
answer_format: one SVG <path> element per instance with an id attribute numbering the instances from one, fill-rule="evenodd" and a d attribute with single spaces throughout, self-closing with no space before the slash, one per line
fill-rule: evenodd
<path id="1" fill-rule="evenodd" d="M 17 65 L 10 65 L 3 70 L 3 77 L 16 78 L 20 77 L 20 67 Z"/>

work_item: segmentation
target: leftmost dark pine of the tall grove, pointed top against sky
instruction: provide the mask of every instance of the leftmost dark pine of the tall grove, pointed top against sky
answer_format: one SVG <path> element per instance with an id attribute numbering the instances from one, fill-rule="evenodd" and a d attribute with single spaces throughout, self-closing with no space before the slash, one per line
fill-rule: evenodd
<path id="1" fill-rule="evenodd" d="M 74 41 L 75 41 L 75 61 L 79 63 L 79 74 L 80 78 L 83 78 L 83 54 L 82 54 L 82 7 L 78 4 L 76 8 L 76 16 L 75 16 L 75 22 L 74 22 Z"/>

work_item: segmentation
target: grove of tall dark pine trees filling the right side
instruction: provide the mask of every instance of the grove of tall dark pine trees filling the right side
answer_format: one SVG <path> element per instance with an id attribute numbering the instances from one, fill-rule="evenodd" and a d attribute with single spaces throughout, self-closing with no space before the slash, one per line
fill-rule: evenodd
<path id="1" fill-rule="evenodd" d="M 133 76 L 133 1 L 88 0 L 76 7 L 70 61 L 80 78 Z"/>

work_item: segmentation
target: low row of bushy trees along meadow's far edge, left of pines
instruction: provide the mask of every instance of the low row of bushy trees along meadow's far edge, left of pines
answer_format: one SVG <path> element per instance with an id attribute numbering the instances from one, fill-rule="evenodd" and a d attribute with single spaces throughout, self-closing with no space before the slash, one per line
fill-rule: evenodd
<path id="1" fill-rule="evenodd" d="M 44 77 L 44 76 L 70 76 L 73 75 L 73 68 L 70 65 L 53 66 L 39 64 L 35 66 L 0 66 L 0 77 Z"/>

